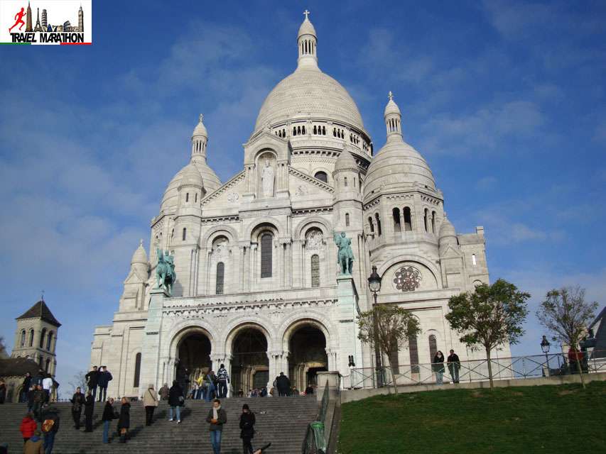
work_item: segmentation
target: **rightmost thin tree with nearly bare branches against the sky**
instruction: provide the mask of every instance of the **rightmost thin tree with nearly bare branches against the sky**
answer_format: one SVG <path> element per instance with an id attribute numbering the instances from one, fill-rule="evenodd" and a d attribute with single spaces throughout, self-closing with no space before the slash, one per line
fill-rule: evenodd
<path id="1" fill-rule="evenodd" d="M 553 340 L 575 349 L 580 382 L 585 388 L 583 368 L 578 354 L 579 342 L 595 317 L 597 302 L 585 302 L 585 289 L 562 287 L 547 292 L 545 301 L 536 311 L 536 318 L 553 334 Z"/>

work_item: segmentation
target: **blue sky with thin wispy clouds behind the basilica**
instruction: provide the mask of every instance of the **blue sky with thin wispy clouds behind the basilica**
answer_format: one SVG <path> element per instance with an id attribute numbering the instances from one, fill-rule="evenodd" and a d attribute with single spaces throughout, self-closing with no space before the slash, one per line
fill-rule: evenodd
<path id="1" fill-rule="evenodd" d="M 423 3 L 423 2 L 421 2 Z M 426 2 L 427 3 L 427 2 Z M 491 278 L 536 305 L 580 284 L 604 305 L 606 4 L 602 1 L 93 2 L 92 46 L 0 46 L 0 335 L 45 290 L 63 323 L 58 381 L 85 369 L 139 238 L 205 114 L 226 181 L 266 94 L 296 66 L 303 10 L 324 72 L 378 149 L 394 92 L 460 233 L 483 225 Z"/>

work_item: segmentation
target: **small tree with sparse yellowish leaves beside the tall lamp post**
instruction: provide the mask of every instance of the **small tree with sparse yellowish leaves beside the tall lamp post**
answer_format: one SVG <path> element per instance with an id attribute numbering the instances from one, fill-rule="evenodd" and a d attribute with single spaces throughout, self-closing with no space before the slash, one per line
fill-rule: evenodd
<path id="1" fill-rule="evenodd" d="M 394 391 L 398 393 L 396 370 L 391 362 L 400 348 L 408 343 L 409 337 L 421 333 L 418 319 L 410 311 L 397 306 L 374 306 L 371 311 L 358 316 L 358 338 L 364 343 L 377 342 L 379 350 L 389 359 L 391 375 L 394 377 Z"/>

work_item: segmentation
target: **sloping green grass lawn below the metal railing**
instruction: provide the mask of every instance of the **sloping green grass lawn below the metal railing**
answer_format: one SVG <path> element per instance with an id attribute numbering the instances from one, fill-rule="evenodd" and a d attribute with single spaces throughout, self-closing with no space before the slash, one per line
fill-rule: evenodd
<path id="1" fill-rule="evenodd" d="M 606 453 L 606 382 L 448 389 L 342 406 L 339 454 Z"/>

